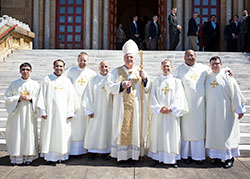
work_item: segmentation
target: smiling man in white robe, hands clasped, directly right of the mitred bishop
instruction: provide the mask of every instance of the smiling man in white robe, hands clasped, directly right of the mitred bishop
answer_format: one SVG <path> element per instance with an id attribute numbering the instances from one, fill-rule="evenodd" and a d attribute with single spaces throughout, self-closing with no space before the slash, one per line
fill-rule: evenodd
<path id="1" fill-rule="evenodd" d="M 181 80 L 173 77 L 172 68 L 170 60 L 163 60 L 163 74 L 152 85 L 150 103 L 154 114 L 148 156 L 177 168 L 177 160 L 181 159 L 180 116 L 188 112 L 188 104 Z"/>

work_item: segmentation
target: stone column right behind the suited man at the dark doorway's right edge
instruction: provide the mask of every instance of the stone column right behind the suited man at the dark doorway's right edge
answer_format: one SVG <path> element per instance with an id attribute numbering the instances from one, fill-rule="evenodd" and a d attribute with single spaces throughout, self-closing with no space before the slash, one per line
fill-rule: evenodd
<path id="1" fill-rule="evenodd" d="M 182 18 L 183 18 L 183 15 L 184 15 L 182 1 L 183 0 L 177 0 L 177 2 L 176 2 L 176 4 L 177 4 L 177 19 L 178 19 L 179 24 L 182 27 L 181 34 L 180 34 L 180 42 L 179 42 L 178 46 L 176 47 L 176 50 L 182 50 L 182 44 L 183 44 L 183 38 L 182 37 L 183 37 L 183 33 L 185 33 L 184 24 L 183 24 L 183 21 L 182 21 Z"/>

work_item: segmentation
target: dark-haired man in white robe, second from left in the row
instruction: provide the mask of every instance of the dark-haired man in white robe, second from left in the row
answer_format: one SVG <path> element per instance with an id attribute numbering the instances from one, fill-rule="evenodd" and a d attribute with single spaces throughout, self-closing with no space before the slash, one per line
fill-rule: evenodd
<path id="1" fill-rule="evenodd" d="M 42 117 L 41 156 L 46 161 L 67 160 L 71 142 L 71 118 L 74 116 L 75 89 L 63 74 L 65 63 L 54 61 L 54 73 L 44 78 L 38 99 Z"/>

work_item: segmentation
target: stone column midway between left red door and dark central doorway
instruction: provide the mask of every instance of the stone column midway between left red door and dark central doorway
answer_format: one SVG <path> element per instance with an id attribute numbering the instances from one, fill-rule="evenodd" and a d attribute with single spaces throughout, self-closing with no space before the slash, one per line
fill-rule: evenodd
<path id="1" fill-rule="evenodd" d="M 99 0 L 93 0 L 92 49 L 98 49 L 99 38 Z"/>

